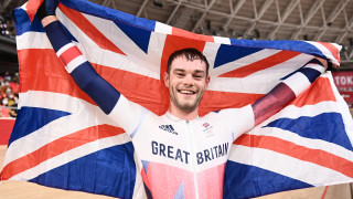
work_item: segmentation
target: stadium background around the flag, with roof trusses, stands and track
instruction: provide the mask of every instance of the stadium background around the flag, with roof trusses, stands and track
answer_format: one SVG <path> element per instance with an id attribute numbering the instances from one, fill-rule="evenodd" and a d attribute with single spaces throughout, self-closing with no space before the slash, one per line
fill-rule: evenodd
<path id="1" fill-rule="evenodd" d="M 92 0 L 137 17 L 191 32 L 249 40 L 309 40 L 342 45 L 336 86 L 353 107 L 353 0 Z M 11 12 L 25 0 L 0 2 L 0 164 L 17 115 L 19 67 Z M 288 191 L 264 198 L 352 198 L 352 185 Z M 22 191 L 21 191 L 22 190 Z M 0 184 L 0 198 L 106 198 Z"/>

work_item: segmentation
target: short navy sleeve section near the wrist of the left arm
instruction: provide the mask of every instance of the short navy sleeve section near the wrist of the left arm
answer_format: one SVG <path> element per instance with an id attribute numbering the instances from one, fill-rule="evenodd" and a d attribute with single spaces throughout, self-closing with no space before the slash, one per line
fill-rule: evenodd
<path id="1" fill-rule="evenodd" d="M 57 52 L 62 46 L 66 45 L 67 43 L 71 43 L 71 40 L 60 21 L 54 21 L 46 25 L 44 29 L 55 52 Z"/>

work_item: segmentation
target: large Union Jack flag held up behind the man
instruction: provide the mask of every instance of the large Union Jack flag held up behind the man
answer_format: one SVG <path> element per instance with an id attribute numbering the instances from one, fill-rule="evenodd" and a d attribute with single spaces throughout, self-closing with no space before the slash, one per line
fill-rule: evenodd
<path id="1" fill-rule="evenodd" d="M 74 83 L 34 15 L 41 1 L 14 10 L 20 111 L 1 178 L 119 198 L 145 188 L 133 146 Z M 313 56 L 340 64 L 340 46 L 309 41 L 253 41 L 194 34 L 85 0 L 60 0 L 56 15 L 96 71 L 128 100 L 158 115 L 169 93 L 169 55 L 195 48 L 210 62 L 200 115 L 243 107 Z M 353 124 L 331 74 L 234 142 L 224 198 L 352 182 Z"/>

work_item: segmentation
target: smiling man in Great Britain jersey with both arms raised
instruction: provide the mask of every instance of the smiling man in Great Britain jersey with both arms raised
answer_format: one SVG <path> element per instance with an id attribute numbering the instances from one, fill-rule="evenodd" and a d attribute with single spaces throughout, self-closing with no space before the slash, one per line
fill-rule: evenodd
<path id="1" fill-rule="evenodd" d="M 201 52 L 183 49 L 169 59 L 164 84 L 170 106 L 157 116 L 96 73 L 65 34 L 55 17 L 56 7 L 51 0 L 38 12 L 53 49 L 77 85 L 129 134 L 147 195 L 153 198 L 222 198 L 232 143 L 308 88 L 327 66 L 325 61 L 314 59 L 253 105 L 199 117 L 199 104 L 211 81 L 210 66 Z"/>

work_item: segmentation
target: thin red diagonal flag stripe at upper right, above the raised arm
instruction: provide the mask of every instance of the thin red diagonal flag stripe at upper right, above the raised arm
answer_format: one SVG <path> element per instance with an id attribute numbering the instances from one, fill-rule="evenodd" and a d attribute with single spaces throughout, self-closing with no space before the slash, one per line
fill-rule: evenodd
<path id="1" fill-rule="evenodd" d="M 276 53 L 274 55 L 270 55 L 266 59 L 261 59 L 260 61 L 257 61 L 255 63 L 252 63 L 249 65 L 236 69 L 234 71 L 229 71 L 227 73 L 224 73 L 220 75 L 220 77 L 246 77 L 250 74 L 254 74 L 258 71 L 271 67 L 274 65 L 280 64 L 287 60 L 290 60 L 297 55 L 299 55 L 299 52 L 295 51 L 280 51 L 279 53 Z"/>

